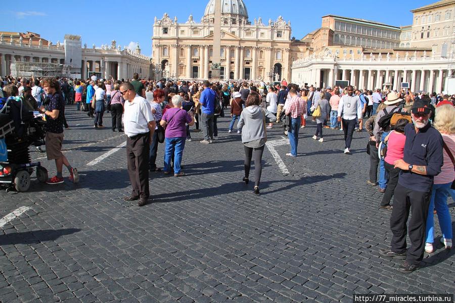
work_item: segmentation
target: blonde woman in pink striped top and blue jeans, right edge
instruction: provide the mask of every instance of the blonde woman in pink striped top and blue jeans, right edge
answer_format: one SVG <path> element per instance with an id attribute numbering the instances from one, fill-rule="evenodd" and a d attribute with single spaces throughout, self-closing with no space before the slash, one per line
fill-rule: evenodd
<path id="1" fill-rule="evenodd" d="M 442 105 L 436 108 L 434 128 L 439 130 L 450 153 L 455 157 L 455 108 L 451 105 Z M 430 207 L 428 211 L 425 243 L 425 251 L 434 251 L 434 214 L 438 215 L 439 227 L 441 228 L 441 242 L 445 248 L 452 248 L 452 222 L 447 207 L 447 196 L 450 193 L 450 186 L 455 178 L 453 164 L 445 148 L 442 150 L 444 164 L 439 175 L 434 176 L 433 189 L 431 191 Z"/>

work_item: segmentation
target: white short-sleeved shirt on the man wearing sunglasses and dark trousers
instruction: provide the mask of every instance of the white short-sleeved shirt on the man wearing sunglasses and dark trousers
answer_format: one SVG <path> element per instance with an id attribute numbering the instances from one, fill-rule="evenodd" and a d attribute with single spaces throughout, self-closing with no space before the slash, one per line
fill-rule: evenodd
<path id="1" fill-rule="evenodd" d="M 136 94 L 132 102 L 126 100 L 123 129 L 128 137 L 149 132 L 149 122 L 155 121 L 150 103 Z"/>

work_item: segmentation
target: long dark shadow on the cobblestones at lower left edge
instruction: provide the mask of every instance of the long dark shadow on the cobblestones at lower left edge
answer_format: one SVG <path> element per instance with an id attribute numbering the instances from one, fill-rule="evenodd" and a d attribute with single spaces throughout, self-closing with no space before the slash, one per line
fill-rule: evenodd
<path id="1" fill-rule="evenodd" d="M 36 244 L 44 241 L 54 241 L 61 236 L 79 232 L 78 228 L 66 229 L 43 229 L 19 233 L 11 233 L 0 236 L 0 245 L 9 244 Z"/>

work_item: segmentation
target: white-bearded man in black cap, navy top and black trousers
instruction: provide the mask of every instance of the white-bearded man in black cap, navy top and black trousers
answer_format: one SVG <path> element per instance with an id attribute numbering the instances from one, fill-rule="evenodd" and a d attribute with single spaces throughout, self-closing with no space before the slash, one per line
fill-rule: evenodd
<path id="1" fill-rule="evenodd" d="M 393 210 L 390 217 L 392 241 L 390 249 L 381 249 L 382 257 L 405 260 L 398 271 L 411 273 L 420 267 L 425 248 L 425 229 L 430 206 L 434 176 L 441 172 L 443 140 L 441 134 L 431 127 L 429 99 L 417 99 L 412 108 L 414 124 L 404 127 L 406 141 L 404 157 L 396 160 L 394 168 L 401 169 L 393 195 Z M 411 219 L 406 228 L 406 221 Z M 411 247 L 406 246 L 406 232 Z"/>

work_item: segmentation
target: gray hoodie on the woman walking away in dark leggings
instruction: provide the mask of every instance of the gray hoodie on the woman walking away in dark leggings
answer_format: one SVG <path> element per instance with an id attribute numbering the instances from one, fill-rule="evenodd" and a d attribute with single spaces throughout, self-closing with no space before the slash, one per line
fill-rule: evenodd
<path id="1" fill-rule="evenodd" d="M 262 109 L 257 105 L 246 107 L 240 114 L 237 128 L 242 129 L 243 143 L 265 138 L 264 113 Z"/>

